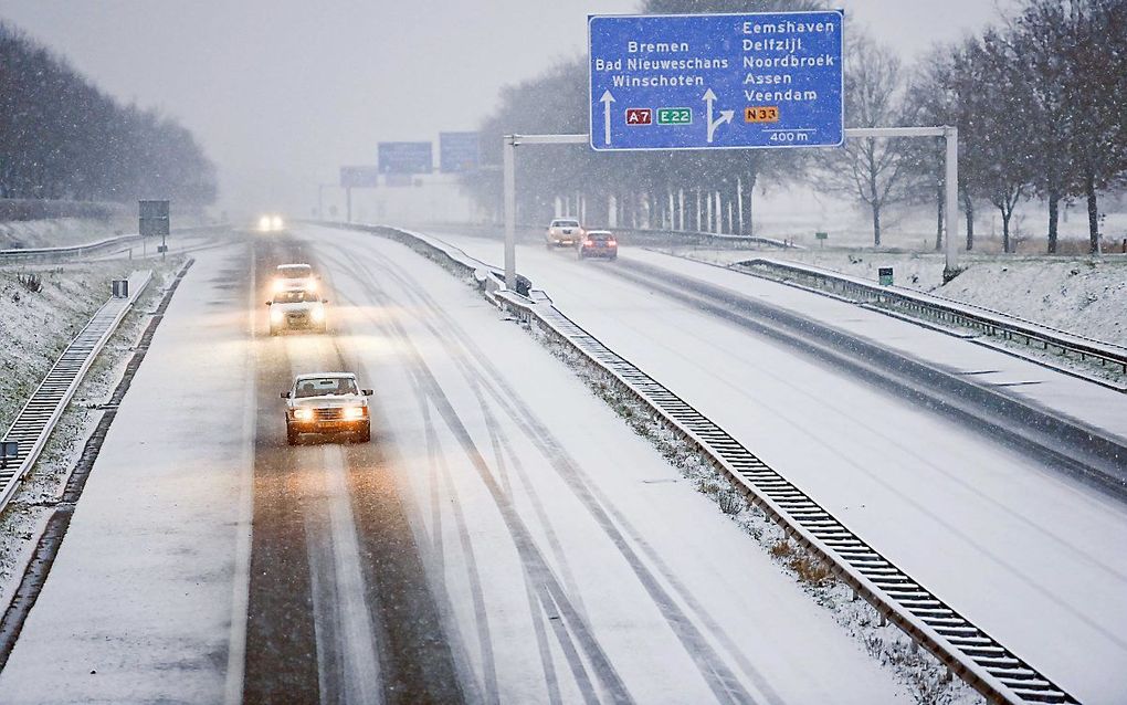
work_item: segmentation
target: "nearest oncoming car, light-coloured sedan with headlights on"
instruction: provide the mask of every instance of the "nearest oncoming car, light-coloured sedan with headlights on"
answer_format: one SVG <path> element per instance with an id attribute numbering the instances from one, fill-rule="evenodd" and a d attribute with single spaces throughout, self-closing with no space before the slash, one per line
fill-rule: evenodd
<path id="1" fill-rule="evenodd" d="M 349 435 L 366 443 L 372 440 L 372 416 L 367 397 L 353 372 L 313 372 L 299 374 L 285 399 L 286 443 L 296 446 L 302 434 Z"/>

